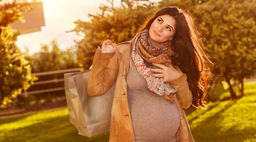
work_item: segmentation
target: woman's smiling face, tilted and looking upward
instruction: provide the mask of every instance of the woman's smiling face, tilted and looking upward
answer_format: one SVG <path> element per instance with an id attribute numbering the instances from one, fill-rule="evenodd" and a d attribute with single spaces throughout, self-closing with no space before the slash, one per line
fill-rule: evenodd
<path id="1" fill-rule="evenodd" d="M 175 33 L 176 20 L 168 14 L 157 17 L 149 28 L 149 40 L 153 45 L 159 45 L 171 40 Z"/>

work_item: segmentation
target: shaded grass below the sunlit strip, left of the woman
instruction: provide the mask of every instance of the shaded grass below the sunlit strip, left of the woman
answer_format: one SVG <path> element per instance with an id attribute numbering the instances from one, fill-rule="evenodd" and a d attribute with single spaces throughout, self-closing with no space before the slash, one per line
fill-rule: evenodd
<path id="1" fill-rule="evenodd" d="M 108 140 L 109 133 L 104 133 L 91 138 L 78 135 L 78 130 L 75 129 L 75 126 L 73 126 L 73 124 L 70 124 L 68 115 L 57 116 L 52 119 L 46 119 L 45 121 L 40 121 L 36 124 L 26 126 L 20 129 L 5 131 L 4 136 L 0 138 L 0 141 L 5 142 L 105 142 Z"/>

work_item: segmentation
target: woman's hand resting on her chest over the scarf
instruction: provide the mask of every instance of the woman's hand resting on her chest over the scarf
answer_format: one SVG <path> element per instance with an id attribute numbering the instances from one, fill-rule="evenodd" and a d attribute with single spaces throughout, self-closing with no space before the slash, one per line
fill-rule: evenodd
<path id="1" fill-rule="evenodd" d="M 173 80 L 178 79 L 178 77 L 181 77 L 181 75 L 183 75 L 181 70 L 178 70 L 171 65 L 165 66 L 165 65 L 156 64 L 156 63 L 153 63 L 153 65 L 155 65 L 156 67 L 159 67 L 159 69 L 150 69 L 151 72 L 154 72 L 152 73 L 152 75 L 154 77 L 163 78 L 164 82 L 171 82 Z"/>

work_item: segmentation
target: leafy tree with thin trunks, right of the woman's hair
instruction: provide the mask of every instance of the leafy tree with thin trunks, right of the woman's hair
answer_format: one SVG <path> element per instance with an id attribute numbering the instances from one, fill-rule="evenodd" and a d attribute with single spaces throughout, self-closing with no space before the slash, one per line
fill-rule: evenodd
<path id="1" fill-rule="evenodd" d="M 231 80 L 240 82 L 255 75 L 256 13 L 254 1 L 207 1 L 195 10 L 199 28 L 207 41 L 215 72 L 228 82 L 230 95 L 237 97 Z"/>

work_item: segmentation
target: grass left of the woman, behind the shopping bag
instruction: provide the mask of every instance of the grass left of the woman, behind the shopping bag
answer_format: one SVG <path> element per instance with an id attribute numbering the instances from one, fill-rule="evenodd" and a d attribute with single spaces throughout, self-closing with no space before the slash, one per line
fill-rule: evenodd
<path id="1" fill-rule="evenodd" d="M 92 138 L 78 135 L 70 124 L 68 109 L 0 119 L 0 141 L 3 142 L 105 142 L 108 137 L 108 133 Z"/>

